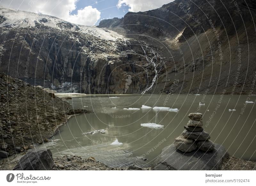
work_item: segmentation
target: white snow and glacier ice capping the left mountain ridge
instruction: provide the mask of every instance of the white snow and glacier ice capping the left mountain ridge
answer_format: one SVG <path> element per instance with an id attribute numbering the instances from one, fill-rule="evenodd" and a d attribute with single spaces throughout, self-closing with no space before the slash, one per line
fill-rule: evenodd
<path id="1" fill-rule="evenodd" d="M 91 26 L 76 25 L 65 20 L 33 12 L 19 11 L 10 8 L 0 7 L 1 24 L 0 27 L 11 28 L 28 28 L 36 25 L 44 25 L 55 29 L 65 29 L 70 31 L 81 32 L 81 34 L 88 34 L 100 39 L 116 41 L 123 40 L 124 36 L 117 34 L 108 29 L 102 29 Z"/>

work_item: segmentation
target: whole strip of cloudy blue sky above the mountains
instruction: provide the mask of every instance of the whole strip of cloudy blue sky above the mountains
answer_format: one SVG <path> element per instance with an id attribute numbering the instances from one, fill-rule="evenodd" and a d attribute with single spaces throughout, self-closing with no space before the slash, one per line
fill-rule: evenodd
<path id="1" fill-rule="evenodd" d="M 98 25 L 102 19 L 122 18 L 127 12 L 143 12 L 174 0 L 0 0 L 0 6 L 42 13 L 79 25 Z"/>

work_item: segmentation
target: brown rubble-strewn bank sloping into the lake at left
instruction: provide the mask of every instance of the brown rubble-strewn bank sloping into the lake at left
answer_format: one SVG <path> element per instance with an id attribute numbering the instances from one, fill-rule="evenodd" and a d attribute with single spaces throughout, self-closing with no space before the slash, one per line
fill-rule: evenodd
<path id="1" fill-rule="evenodd" d="M 0 73 L 0 158 L 47 141 L 66 122 L 69 103 Z M 33 146 L 33 145 L 32 145 Z"/>

